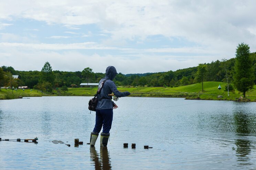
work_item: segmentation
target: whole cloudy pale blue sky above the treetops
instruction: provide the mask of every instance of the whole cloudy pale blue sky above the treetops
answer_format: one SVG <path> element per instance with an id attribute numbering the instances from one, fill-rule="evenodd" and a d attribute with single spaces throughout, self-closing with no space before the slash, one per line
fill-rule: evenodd
<path id="1" fill-rule="evenodd" d="M 0 0 L 0 66 L 175 71 L 256 52 L 255 0 Z"/>

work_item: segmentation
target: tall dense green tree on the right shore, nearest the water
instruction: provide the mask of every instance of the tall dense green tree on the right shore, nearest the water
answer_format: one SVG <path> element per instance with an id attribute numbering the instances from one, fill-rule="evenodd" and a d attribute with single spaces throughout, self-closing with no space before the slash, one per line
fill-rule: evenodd
<path id="1" fill-rule="evenodd" d="M 253 71 L 253 61 L 250 57 L 250 47 L 244 43 L 238 44 L 236 48 L 234 85 L 238 91 L 243 93 L 244 97 L 245 92 L 253 88 Z"/>

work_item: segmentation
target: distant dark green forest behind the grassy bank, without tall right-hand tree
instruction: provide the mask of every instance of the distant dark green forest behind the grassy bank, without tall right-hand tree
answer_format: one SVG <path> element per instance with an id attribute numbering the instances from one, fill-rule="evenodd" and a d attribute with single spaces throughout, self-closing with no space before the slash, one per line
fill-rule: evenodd
<path id="1" fill-rule="evenodd" d="M 254 75 L 256 77 L 256 53 L 250 53 L 253 58 Z M 221 61 L 212 61 L 211 63 L 204 63 L 205 74 L 204 81 L 225 81 L 226 72 L 234 72 L 235 58 L 229 60 L 222 59 Z M 199 65 L 200 66 L 200 65 Z M 113 80 L 117 86 L 148 86 L 148 87 L 178 87 L 185 86 L 193 83 L 200 82 L 196 79 L 196 73 L 198 67 L 190 67 L 185 69 L 179 69 L 176 71 L 157 72 L 157 73 L 138 73 L 138 74 L 127 74 L 118 73 Z M 45 66 L 44 66 L 45 67 Z M 47 68 L 42 71 L 50 71 L 52 78 L 52 88 L 59 87 L 71 87 L 72 84 L 79 86 L 80 83 L 97 83 L 100 79 L 105 76 L 105 73 L 94 73 L 93 69 L 86 68 L 85 71 L 52 71 L 50 64 Z M 12 75 L 19 75 L 17 81 L 18 86 L 28 86 L 29 88 L 36 88 L 41 83 L 42 71 L 18 71 L 11 66 L 2 66 L 2 71 L 10 73 Z M 86 76 L 87 75 L 87 76 Z M 229 74 L 229 79 L 232 82 L 232 74 Z M 256 81 L 254 80 L 256 83 Z"/>

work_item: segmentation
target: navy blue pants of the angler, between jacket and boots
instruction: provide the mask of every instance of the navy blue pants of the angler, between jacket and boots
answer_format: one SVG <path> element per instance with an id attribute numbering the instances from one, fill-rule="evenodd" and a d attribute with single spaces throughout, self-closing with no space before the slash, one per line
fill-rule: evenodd
<path id="1" fill-rule="evenodd" d="M 113 109 L 96 110 L 96 121 L 93 132 L 99 133 L 103 126 L 103 133 L 109 133 L 113 121 Z"/>

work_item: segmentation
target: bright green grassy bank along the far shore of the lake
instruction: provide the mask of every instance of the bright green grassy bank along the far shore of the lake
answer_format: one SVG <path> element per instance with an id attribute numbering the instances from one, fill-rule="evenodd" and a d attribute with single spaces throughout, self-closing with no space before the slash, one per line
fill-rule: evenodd
<path id="1" fill-rule="evenodd" d="M 221 85 L 222 89 L 218 90 L 218 85 Z M 130 93 L 149 93 L 149 92 L 167 92 L 166 94 L 132 94 L 130 97 L 185 97 L 187 99 L 202 99 L 202 100 L 237 100 L 241 93 L 237 91 L 230 92 L 228 97 L 227 92 L 224 91 L 225 84 L 222 82 L 204 82 L 204 91 L 203 94 L 186 94 L 186 93 L 202 93 L 202 84 L 196 83 L 188 86 L 180 87 L 137 87 L 137 88 L 128 88 L 128 87 L 119 87 L 118 90 L 121 92 L 129 91 Z M 40 97 L 46 95 L 61 95 L 61 96 L 93 96 L 97 91 L 97 88 L 69 88 L 67 92 L 62 92 L 61 90 L 53 90 L 52 93 L 46 94 L 41 93 L 38 90 L 17 90 L 13 91 L 8 89 L 2 89 L 0 91 L 0 99 L 8 99 L 7 96 L 12 93 L 14 98 L 18 96 L 22 97 Z M 182 93 L 185 92 L 185 93 Z M 222 95 L 222 98 L 217 98 L 218 95 Z M 246 93 L 246 98 L 250 101 L 256 101 L 256 86 L 254 89 Z"/>

